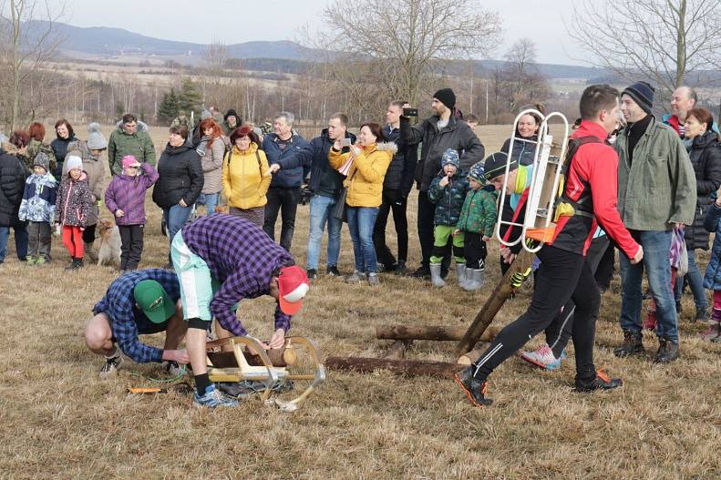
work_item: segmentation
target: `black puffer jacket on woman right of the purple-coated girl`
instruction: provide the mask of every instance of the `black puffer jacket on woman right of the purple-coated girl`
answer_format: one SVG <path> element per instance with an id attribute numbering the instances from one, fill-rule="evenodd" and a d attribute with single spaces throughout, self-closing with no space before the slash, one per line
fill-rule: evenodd
<path id="1" fill-rule="evenodd" d="M 201 157 L 188 143 L 163 150 L 158 161 L 160 178 L 153 189 L 153 201 L 161 209 L 170 209 L 183 199 L 188 206 L 201 194 L 203 176 Z"/>

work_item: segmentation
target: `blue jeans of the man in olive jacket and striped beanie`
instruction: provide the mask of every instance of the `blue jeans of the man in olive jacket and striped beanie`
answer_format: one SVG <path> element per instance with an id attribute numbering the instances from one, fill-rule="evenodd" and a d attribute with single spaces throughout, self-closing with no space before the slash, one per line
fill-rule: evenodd
<path id="1" fill-rule="evenodd" d="M 641 281 L 644 269 L 648 276 L 651 294 L 656 302 L 656 335 L 678 343 L 678 322 L 671 290 L 671 262 L 668 252 L 671 249 L 671 230 L 638 231 L 631 230 L 633 238 L 644 247 L 644 260 L 632 265 L 625 255 L 619 255 L 623 298 L 621 301 L 621 328 L 624 332 L 641 335 L 641 306 L 643 293 Z"/>

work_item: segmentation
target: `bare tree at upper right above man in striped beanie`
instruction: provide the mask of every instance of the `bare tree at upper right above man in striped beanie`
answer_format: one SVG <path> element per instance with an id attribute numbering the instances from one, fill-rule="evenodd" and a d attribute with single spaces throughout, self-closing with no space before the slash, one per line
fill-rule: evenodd
<path id="1" fill-rule="evenodd" d="M 715 68 L 721 48 L 719 0 L 625 0 L 574 3 L 567 30 L 592 63 L 664 93 L 692 72 Z"/>

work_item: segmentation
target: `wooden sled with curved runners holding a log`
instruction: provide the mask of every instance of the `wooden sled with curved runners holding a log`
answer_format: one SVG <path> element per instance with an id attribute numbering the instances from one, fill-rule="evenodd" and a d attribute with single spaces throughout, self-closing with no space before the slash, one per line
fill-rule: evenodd
<path id="1" fill-rule="evenodd" d="M 221 347 L 231 347 L 232 350 L 221 352 Z M 252 337 L 214 340 L 207 343 L 206 349 L 208 377 L 211 382 L 262 382 L 265 384 L 263 403 L 274 404 L 283 412 L 297 410 L 300 403 L 325 380 L 325 367 L 318 350 L 304 337 L 286 337 L 283 349 L 270 351 L 266 351 L 263 344 Z M 297 355 L 301 350 L 307 355 Z M 291 400 L 271 399 L 276 386 L 299 381 L 310 382 L 299 396 Z"/>

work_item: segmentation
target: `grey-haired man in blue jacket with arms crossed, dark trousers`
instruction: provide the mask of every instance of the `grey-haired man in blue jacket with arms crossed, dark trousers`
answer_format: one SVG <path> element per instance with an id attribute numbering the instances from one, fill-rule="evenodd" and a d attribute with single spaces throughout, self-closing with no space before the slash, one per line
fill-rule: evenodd
<path id="1" fill-rule="evenodd" d="M 294 115 L 290 112 L 281 112 L 273 121 L 274 133 L 263 138 L 263 151 L 268 163 L 273 165 L 282 158 L 288 158 L 295 152 L 304 148 L 308 142 L 293 131 Z M 301 195 L 303 179 L 310 171 L 308 167 L 283 169 L 273 176 L 271 188 L 265 197 L 265 220 L 263 231 L 271 240 L 275 240 L 275 220 L 278 219 L 278 210 L 281 211 L 281 247 L 290 251 L 293 233 L 295 231 L 295 210 Z"/>

